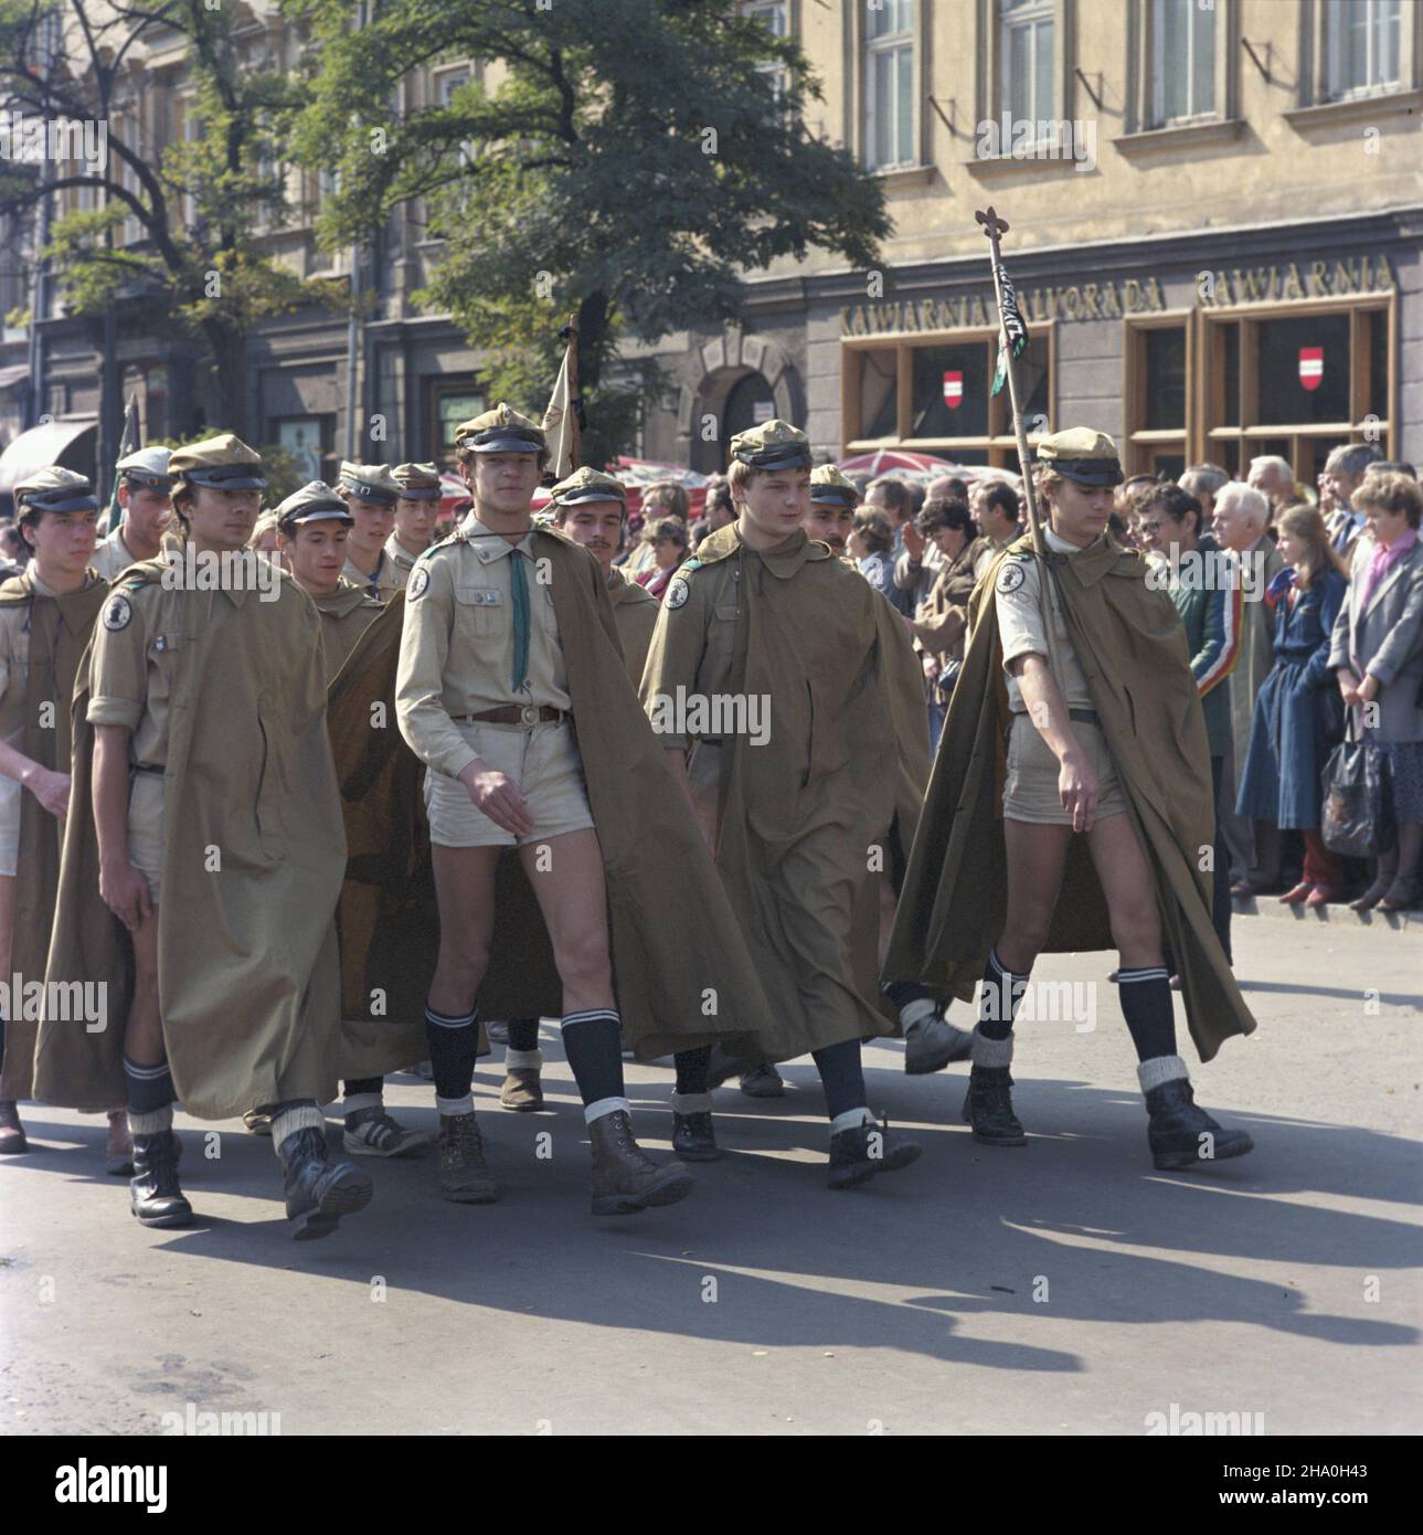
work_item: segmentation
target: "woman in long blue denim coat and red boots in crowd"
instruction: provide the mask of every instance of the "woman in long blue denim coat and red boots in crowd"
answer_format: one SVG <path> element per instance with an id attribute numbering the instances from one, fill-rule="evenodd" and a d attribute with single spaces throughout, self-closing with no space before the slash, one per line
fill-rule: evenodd
<path id="1" fill-rule="evenodd" d="M 1286 507 L 1279 522 L 1282 569 L 1265 591 L 1274 609 L 1274 666 L 1256 695 L 1250 748 L 1240 775 L 1237 815 L 1269 821 L 1305 838 L 1299 884 L 1280 900 L 1288 906 L 1325 906 L 1343 893 L 1343 864 L 1320 835 L 1320 769 L 1334 703 L 1329 645 L 1348 582 L 1329 546 L 1325 519 L 1303 503 Z"/>

